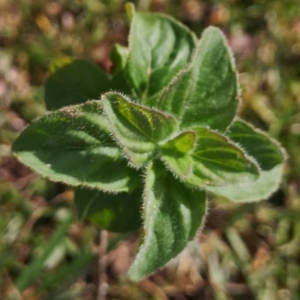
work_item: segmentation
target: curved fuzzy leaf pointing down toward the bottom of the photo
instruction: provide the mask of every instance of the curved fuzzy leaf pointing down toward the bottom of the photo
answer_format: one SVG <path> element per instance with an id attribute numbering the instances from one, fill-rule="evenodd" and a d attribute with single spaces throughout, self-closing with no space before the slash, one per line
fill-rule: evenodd
<path id="1" fill-rule="evenodd" d="M 199 230 L 205 193 L 173 178 L 160 161 L 147 168 L 144 191 L 145 238 L 129 270 L 140 280 L 178 255 Z"/>

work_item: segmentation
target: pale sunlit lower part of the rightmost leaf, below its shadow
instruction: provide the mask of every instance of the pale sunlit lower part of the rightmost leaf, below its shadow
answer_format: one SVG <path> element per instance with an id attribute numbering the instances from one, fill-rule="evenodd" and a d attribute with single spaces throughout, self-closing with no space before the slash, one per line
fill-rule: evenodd
<path id="1" fill-rule="evenodd" d="M 235 202 L 255 202 L 268 199 L 279 187 L 282 179 L 282 164 L 268 171 L 261 171 L 259 178 L 250 183 L 228 186 L 207 186 L 206 190 Z"/>

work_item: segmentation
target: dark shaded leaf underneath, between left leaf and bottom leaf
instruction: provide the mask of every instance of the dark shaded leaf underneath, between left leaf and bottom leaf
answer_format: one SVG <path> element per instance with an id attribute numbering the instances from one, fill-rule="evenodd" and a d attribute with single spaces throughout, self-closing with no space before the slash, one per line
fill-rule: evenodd
<path id="1" fill-rule="evenodd" d="M 76 189 L 75 205 L 79 218 L 92 222 L 113 232 L 128 232 L 142 225 L 142 193 L 119 193 L 116 195 L 97 190 Z"/>

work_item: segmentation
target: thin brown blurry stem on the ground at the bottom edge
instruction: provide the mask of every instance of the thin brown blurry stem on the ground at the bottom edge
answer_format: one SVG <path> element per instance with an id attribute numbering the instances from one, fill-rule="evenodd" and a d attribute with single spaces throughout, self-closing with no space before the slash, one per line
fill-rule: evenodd
<path id="1" fill-rule="evenodd" d="M 107 275 L 106 275 L 106 263 L 107 263 L 107 231 L 100 230 L 99 232 L 99 245 L 98 245 L 98 292 L 97 300 L 105 300 L 107 294 Z"/>

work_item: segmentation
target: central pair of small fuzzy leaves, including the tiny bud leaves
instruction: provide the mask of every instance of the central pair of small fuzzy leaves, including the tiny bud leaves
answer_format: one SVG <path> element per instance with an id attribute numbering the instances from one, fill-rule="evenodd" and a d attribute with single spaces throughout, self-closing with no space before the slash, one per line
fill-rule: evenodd
<path id="1" fill-rule="evenodd" d="M 129 102 L 117 93 L 105 94 L 102 102 L 116 141 L 137 168 L 161 158 L 175 175 L 197 187 L 258 177 L 257 164 L 213 130 L 196 127 L 180 132 L 174 116 Z"/>

